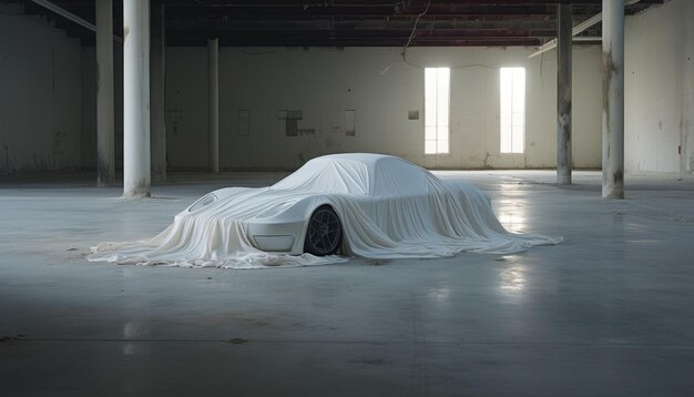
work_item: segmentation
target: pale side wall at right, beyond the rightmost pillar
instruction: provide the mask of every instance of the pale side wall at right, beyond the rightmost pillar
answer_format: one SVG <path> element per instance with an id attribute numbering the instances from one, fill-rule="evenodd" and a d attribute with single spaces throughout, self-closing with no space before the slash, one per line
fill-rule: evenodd
<path id="1" fill-rule="evenodd" d="M 694 172 L 694 1 L 626 19 L 625 169 Z"/>

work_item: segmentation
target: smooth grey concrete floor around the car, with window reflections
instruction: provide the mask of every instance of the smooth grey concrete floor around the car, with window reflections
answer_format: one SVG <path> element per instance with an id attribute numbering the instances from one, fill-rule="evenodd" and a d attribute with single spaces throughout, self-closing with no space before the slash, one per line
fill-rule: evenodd
<path id="1" fill-rule="evenodd" d="M 282 174 L 0 184 L 0 395 L 691 396 L 694 180 L 441 172 L 558 246 L 262 271 L 88 263 L 197 196 Z"/>

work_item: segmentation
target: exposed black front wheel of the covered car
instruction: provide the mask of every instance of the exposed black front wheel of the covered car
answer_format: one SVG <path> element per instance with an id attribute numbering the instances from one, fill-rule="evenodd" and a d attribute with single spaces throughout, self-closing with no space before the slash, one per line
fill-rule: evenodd
<path id="1" fill-rule="evenodd" d="M 304 252 L 326 256 L 334 255 L 343 243 L 343 225 L 339 217 L 329 205 L 322 205 L 310 215 Z"/>

